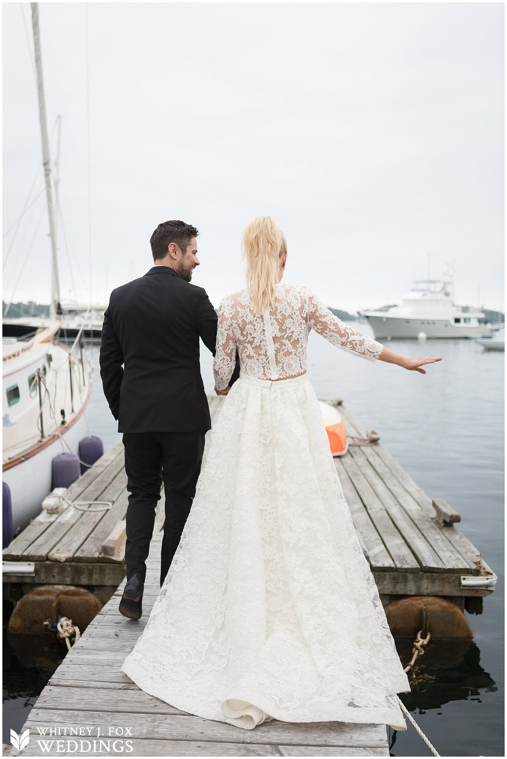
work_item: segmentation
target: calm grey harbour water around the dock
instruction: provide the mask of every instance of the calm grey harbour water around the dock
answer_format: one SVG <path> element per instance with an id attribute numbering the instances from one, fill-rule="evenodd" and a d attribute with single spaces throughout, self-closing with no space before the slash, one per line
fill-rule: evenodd
<path id="1" fill-rule="evenodd" d="M 369 326 L 354 324 L 371 334 Z M 503 756 L 503 367 L 504 354 L 483 352 L 471 340 L 392 340 L 388 346 L 412 357 L 442 356 L 427 374 L 355 358 L 312 333 L 308 376 L 320 398 L 343 398 L 352 414 L 433 498 L 462 515 L 460 530 L 499 576 L 484 599 L 484 613 L 468 616 L 474 641 L 433 647 L 424 657 L 426 678 L 403 701 L 443 756 Z M 203 348 L 205 389 L 213 391 L 211 354 Z M 89 410 L 92 433 L 108 448 L 117 439 L 100 387 L 98 349 L 93 349 L 95 388 Z M 19 732 L 45 683 L 64 655 L 59 644 L 14 653 L 4 660 L 4 742 Z M 390 730 L 393 756 L 430 756 L 411 725 Z"/>

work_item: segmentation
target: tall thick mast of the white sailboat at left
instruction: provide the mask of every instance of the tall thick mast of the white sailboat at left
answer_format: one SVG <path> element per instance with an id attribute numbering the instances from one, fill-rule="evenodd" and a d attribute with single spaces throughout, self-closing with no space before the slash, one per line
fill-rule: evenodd
<path id="1" fill-rule="evenodd" d="M 39 93 L 39 121 L 42 137 L 42 166 L 45 178 L 45 197 L 48 203 L 49 235 L 51 237 L 52 251 L 52 278 L 51 278 L 51 303 L 49 304 L 49 316 L 51 320 L 56 318 L 56 302 L 58 297 L 58 263 L 56 258 L 56 235 L 55 215 L 53 213 L 53 197 L 51 188 L 51 161 L 49 159 L 48 127 L 45 116 L 44 82 L 42 80 L 42 58 L 40 54 L 39 32 L 39 4 L 30 3 L 32 7 L 33 46 L 35 48 L 35 65 L 37 71 L 37 90 Z"/>

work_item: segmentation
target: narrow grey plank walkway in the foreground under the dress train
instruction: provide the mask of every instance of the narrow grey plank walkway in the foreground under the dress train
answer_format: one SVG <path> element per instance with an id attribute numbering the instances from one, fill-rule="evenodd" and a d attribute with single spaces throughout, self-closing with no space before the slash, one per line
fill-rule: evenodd
<path id="1" fill-rule="evenodd" d="M 192 716 L 140 691 L 120 672 L 120 666 L 146 625 L 160 590 L 160 548 L 158 534 L 150 546 L 142 618 L 133 621 L 118 612 L 125 581 L 122 582 L 40 694 L 20 731 L 30 728 L 30 742 L 21 756 L 55 755 L 55 748 L 43 751 L 39 741 L 57 739 L 63 741 L 63 751 L 58 750 L 58 755 L 86 756 L 94 753 L 93 744 L 89 747 L 85 743 L 84 750 L 79 751 L 79 742 L 97 739 L 98 735 L 110 742 L 119 739 L 117 750 L 110 748 L 110 754 L 126 752 L 126 741 L 130 741 L 130 754 L 134 757 L 389 756 L 383 725 L 273 720 L 244 730 Z M 117 729 L 112 735 L 111 727 Z M 60 732 L 51 735 L 51 728 Z M 45 735 L 41 735 L 43 732 Z M 69 739 L 77 742 L 77 751 L 74 744 L 67 748 Z M 120 749 L 120 745 L 124 748 Z"/>

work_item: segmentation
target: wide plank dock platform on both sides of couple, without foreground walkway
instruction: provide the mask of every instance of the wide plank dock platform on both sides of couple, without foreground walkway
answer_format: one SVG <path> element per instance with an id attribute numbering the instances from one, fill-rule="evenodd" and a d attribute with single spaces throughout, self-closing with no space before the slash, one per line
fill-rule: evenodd
<path id="1" fill-rule="evenodd" d="M 212 418 L 222 401 L 209 398 Z M 365 427 L 343 405 L 340 413 L 349 436 L 365 438 Z M 495 575 L 455 527 L 459 515 L 427 496 L 380 442 L 350 445 L 346 455 L 334 461 L 383 600 L 393 595 L 440 596 L 462 599 L 466 606 L 474 599 L 477 610 L 480 597 L 493 592 Z M 70 503 L 89 502 L 91 509 L 97 501 L 111 507 L 87 513 L 83 506 L 68 505 L 59 515 L 39 515 L 3 551 L 3 581 L 25 588 L 117 587 L 125 576 L 126 483 L 123 445 L 118 441 L 66 496 Z M 155 534 L 163 530 L 163 500 L 158 503 Z"/>

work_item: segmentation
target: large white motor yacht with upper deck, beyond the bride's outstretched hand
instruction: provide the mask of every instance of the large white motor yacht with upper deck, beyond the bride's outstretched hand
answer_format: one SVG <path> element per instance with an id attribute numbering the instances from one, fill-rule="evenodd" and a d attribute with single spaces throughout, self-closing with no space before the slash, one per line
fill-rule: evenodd
<path id="1" fill-rule="evenodd" d="M 374 331 L 375 339 L 490 337 L 484 313 L 454 302 L 450 279 L 418 279 L 403 295 L 402 304 L 387 310 L 359 311 Z"/>

